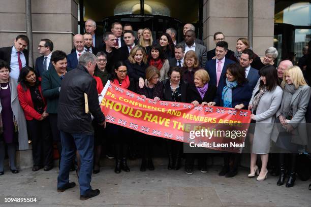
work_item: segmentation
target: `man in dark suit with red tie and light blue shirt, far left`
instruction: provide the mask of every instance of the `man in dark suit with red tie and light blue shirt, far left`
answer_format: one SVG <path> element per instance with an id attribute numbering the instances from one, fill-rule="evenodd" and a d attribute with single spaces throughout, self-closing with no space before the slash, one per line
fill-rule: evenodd
<path id="1" fill-rule="evenodd" d="M 10 77 L 18 79 L 19 71 L 28 65 L 28 50 L 25 48 L 29 44 L 29 39 L 23 34 L 19 34 L 14 40 L 14 45 L 0 48 L 0 59 L 10 64 Z"/>

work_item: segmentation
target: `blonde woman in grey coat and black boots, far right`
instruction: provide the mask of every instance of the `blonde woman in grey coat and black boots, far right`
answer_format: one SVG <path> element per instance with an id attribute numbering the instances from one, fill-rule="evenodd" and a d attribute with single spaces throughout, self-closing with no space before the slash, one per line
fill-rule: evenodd
<path id="1" fill-rule="evenodd" d="M 307 144 L 305 112 L 310 100 L 311 88 L 305 82 L 298 66 L 291 66 L 285 71 L 281 87 L 283 97 L 281 108 L 276 112 L 277 120 L 273 127 L 275 133 L 273 133 L 272 140 L 282 149 L 281 152 L 291 153 L 291 166 L 288 169 L 289 179 L 286 187 L 293 187 L 296 180 L 297 153 Z M 280 153 L 280 174 L 276 183 L 279 186 L 285 181 L 285 163 L 287 163 L 285 154 Z"/>

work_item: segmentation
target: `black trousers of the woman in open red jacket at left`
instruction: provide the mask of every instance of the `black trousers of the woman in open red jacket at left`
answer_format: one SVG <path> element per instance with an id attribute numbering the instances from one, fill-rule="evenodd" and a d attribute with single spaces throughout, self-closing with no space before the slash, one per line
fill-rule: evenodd
<path id="1" fill-rule="evenodd" d="M 34 166 L 52 166 L 53 139 L 49 117 L 42 121 L 27 120 L 27 130 L 33 141 Z"/>

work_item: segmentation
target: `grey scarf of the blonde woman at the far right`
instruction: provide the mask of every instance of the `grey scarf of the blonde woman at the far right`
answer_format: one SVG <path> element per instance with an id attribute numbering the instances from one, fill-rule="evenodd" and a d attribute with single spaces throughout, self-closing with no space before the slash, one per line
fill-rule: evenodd
<path id="1" fill-rule="evenodd" d="M 281 102 L 281 114 L 284 116 L 286 119 L 291 119 L 293 116 L 293 111 L 290 109 L 290 103 L 291 99 L 293 97 L 293 94 L 296 92 L 296 88 L 294 84 L 288 85 L 287 83 L 284 86 L 284 91 L 283 91 L 283 98 Z"/>

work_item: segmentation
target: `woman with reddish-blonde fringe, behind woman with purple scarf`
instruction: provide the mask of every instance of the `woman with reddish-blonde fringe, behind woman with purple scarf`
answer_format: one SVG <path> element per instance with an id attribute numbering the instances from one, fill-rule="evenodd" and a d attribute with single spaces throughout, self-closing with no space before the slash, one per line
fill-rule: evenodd
<path id="1" fill-rule="evenodd" d="M 186 52 L 186 54 L 183 57 L 183 63 L 182 63 L 182 72 L 183 72 L 183 81 L 187 84 L 194 85 L 194 74 L 199 69 L 199 60 L 196 55 L 196 52 L 193 50 L 189 50 Z"/>

